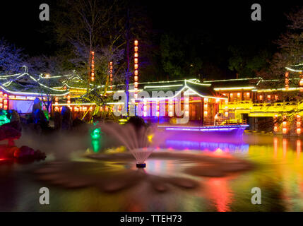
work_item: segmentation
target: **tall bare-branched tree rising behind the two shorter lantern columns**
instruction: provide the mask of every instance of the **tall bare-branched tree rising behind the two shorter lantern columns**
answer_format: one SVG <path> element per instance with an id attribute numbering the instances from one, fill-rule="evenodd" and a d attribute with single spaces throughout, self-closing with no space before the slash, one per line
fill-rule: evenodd
<path id="1" fill-rule="evenodd" d="M 132 73 L 129 46 L 134 38 L 145 37 L 147 30 L 143 28 L 147 20 L 133 8 L 130 1 L 68 0 L 61 2 L 55 12 L 53 29 L 57 33 L 57 42 L 68 46 L 61 54 L 71 63 L 69 68 L 75 69 L 83 78 L 86 98 L 91 102 L 97 101 L 96 95 L 91 94 L 95 89 L 101 94 L 98 99 L 104 102 L 109 89 L 110 61 L 114 64 L 114 83 L 124 83 Z M 140 43 L 143 44 L 141 40 Z M 90 81 L 91 51 L 95 52 L 94 82 Z"/>

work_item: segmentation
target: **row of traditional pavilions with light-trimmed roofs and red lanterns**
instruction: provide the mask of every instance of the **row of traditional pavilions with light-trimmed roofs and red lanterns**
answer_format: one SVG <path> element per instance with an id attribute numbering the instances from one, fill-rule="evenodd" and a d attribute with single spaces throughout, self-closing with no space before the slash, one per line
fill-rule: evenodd
<path id="1" fill-rule="evenodd" d="M 198 79 L 178 81 L 157 81 L 131 83 L 137 85 L 136 91 L 131 88 L 129 107 L 136 103 L 133 114 L 143 116 L 147 121 L 158 124 L 175 124 L 180 118 L 174 110 L 176 97 L 180 95 L 180 109 L 189 117 L 189 124 L 213 124 L 215 114 L 220 113 L 224 120 L 242 123 L 247 121 L 250 130 L 274 131 L 275 133 L 301 133 L 301 117 L 303 117 L 303 65 L 286 68 L 285 78 L 266 80 L 263 78 L 239 78 L 217 81 L 198 81 Z M 36 97 L 51 97 L 52 109 L 60 111 L 61 107 L 71 108 L 75 113 L 92 116 L 96 107 L 100 111 L 119 111 L 125 103 L 108 98 L 107 107 L 96 103 L 79 102 L 87 88 L 76 74 L 65 76 L 39 76 L 34 78 L 28 73 L 0 76 L 0 108 L 16 109 L 19 113 L 29 113 Z M 92 87 L 99 92 L 98 86 Z M 99 88 L 104 88 L 104 85 Z M 106 95 L 124 92 L 125 85 L 111 85 Z M 148 93 L 147 98 L 138 96 L 141 91 Z M 172 91 L 172 97 L 153 97 L 153 92 Z M 134 98 L 135 93 L 137 98 Z M 188 98 L 188 99 L 186 99 Z M 184 102 L 188 100 L 188 104 Z M 153 109 L 154 106 L 154 109 Z M 129 109 L 131 112 L 131 109 Z M 262 125 L 266 125 L 263 129 Z M 269 126 L 268 126 L 269 125 Z"/>

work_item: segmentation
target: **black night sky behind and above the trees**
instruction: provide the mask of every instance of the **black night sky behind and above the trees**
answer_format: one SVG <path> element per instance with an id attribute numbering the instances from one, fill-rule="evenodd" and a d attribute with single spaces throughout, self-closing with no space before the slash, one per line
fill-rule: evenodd
<path id="1" fill-rule="evenodd" d="M 285 31 L 285 13 L 299 1 L 138 1 L 146 7 L 153 29 L 159 34 L 173 32 L 186 34 L 207 32 L 213 40 L 213 47 L 220 49 L 220 57 L 228 61 L 227 47 L 230 44 L 275 48 L 273 40 Z M 0 37 L 23 47 L 30 55 L 52 54 L 55 47 L 49 44 L 52 34 L 42 33 L 46 21 L 39 20 L 39 6 L 47 3 L 52 11 L 54 1 L 1 1 Z M 251 4 L 262 7 L 262 21 L 251 20 Z M 201 52 L 203 54 L 203 52 Z M 218 56 L 219 57 L 219 56 Z M 227 63 L 222 64 L 227 73 Z"/>

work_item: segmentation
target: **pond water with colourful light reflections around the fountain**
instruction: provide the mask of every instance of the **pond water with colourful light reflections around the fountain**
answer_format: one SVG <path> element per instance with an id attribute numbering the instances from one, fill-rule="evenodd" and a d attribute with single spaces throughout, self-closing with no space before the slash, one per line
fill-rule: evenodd
<path id="1" fill-rule="evenodd" d="M 0 161 L 0 211 L 303 211 L 302 145 L 257 133 L 220 142 L 167 139 L 154 151 L 164 154 L 150 156 L 141 170 L 123 153 Z M 225 160 L 254 167 L 225 170 Z M 49 205 L 39 203 L 42 186 Z M 253 187 L 261 189 L 261 205 L 251 204 Z"/>

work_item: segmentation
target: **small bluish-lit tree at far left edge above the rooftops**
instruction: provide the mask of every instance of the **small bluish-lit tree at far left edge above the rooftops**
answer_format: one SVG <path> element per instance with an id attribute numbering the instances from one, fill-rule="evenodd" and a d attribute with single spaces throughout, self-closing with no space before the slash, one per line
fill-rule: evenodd
<path id="1" fill-rule="evenodd" d="M 4 37 L 0 39 L 0 73 L 18 73 L 24 65 L 26 55 L 23 49 L 18 49 L 14 44 L 7 42 Z"/>

